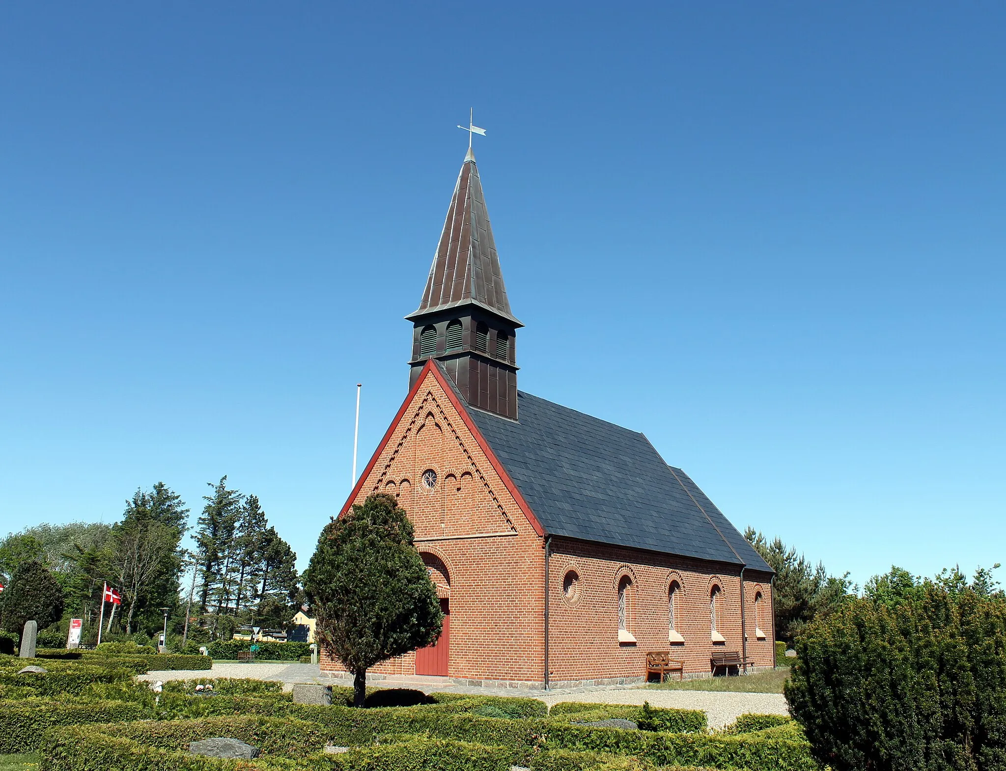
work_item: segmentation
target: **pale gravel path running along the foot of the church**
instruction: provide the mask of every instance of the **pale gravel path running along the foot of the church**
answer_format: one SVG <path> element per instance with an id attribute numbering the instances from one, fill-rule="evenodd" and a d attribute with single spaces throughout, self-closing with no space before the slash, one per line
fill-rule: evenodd
<path id="1" fill-rule="evenodd" d="M 152 671 L 141 674 L 140 680 L 148 682 L 169 680 L 198 680 L 200 678 L 254 678 L 271 680 L 284 684 L 289 691 L 295 683 L 321 683 L 332 685 L 341 683 L 323 677 L 318 664 L 286 663 L 283 661 L 261 663 L 214 663 L 212 669 L 187 669 L 177 671 Z M 348 682 L 345 684 L 348 685 Z M 683 710 L 704 710 L 710 728 L 729 725 L 737 716 L 752 712 L 769 715 L 788 715 L 786 699 L 782 694 L 737 694 L 724 691 L 664 691 L 640 688 L 638 686 L 613 686 L 610 688 L 569 689 L 549 692 L 523 691 L 517 689 L 497 690 L 467 688 L 464 686 L 426 685 L 415 679 L 401 683 L 391 681 L 374 682 L 371 685 L 394 688 L 416 688 L 427 692 L 449 691 L 460 694 L 481 696 L 521 696 L 540 699 L 551 707 L 559 702 L 593 702 L 597 704 L 634 704 L 649 702 L 653 707 L 671 707 Z"/>

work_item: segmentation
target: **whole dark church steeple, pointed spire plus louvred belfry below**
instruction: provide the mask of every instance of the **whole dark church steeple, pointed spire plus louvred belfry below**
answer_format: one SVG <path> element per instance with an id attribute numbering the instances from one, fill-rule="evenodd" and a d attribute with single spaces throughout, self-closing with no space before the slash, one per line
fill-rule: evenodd
<path id="1" fill-rule="evenodd" d="M 437 359 L 469 404 L 516 419 L 514 332 L 523 325 L 510 312 L 471 148 L 423 300 L 405 318 L 414 324 L 410 385 L 427 360 Z"/>

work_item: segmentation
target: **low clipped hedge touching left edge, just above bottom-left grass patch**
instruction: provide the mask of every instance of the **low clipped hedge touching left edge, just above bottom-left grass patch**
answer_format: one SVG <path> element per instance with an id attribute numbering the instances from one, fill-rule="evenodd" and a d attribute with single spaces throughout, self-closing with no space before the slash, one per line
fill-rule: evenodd
<path id="1" fill-rule="evenodd" d="M 69 703 L 51 699 L 0 702 L 0 755 L 34 752 L 50 726 L 131 721 L 145 716 L 142 705 L 125 702 Z"/>

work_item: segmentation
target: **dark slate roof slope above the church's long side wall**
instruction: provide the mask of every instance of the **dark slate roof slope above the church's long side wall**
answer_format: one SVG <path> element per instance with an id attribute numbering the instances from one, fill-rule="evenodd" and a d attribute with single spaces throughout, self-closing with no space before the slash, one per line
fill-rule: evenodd
<path id="1" fill-rule="evenodd" d="M 470 408 L 545 532 L 772 568 L 642 433 L 519 391 L 520 420 Z"/>

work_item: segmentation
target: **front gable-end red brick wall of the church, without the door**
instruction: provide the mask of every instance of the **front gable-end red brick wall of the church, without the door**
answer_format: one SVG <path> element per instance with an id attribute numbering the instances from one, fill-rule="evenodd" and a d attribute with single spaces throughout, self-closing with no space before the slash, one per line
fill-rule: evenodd
<path id="1" fill-rule="evenodd" d="M 431 490 L 423 474 L 433 470 Z M 450 599 L 449 674 L 541 682 L 544 671 L 544 550 L 440 382 L 428 373 L 356 497 L 398 497 L 415 546 Z M 340 671 L 322 656 L 322 668 Z M 373 668 L 415 672 L 408 653 Z"/>

